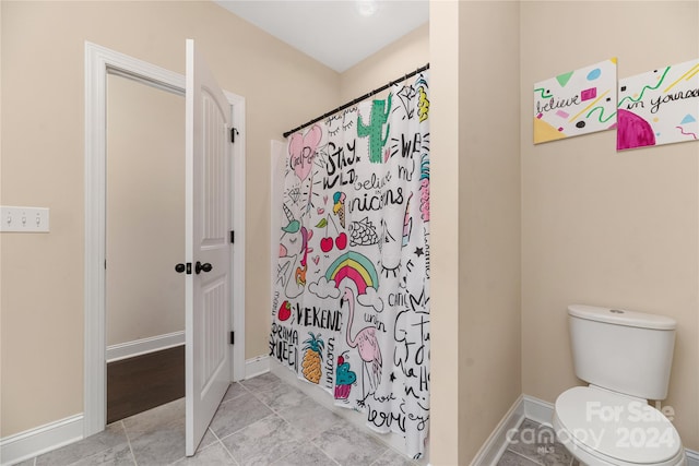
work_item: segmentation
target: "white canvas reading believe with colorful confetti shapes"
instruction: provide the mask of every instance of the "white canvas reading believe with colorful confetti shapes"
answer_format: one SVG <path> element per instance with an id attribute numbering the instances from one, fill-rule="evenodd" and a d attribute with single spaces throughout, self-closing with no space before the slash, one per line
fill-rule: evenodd
<path id="1" fill-rule="evenodd" d="M 534 84 L 534 144 L 616 128 L 616 58 Z"/>

